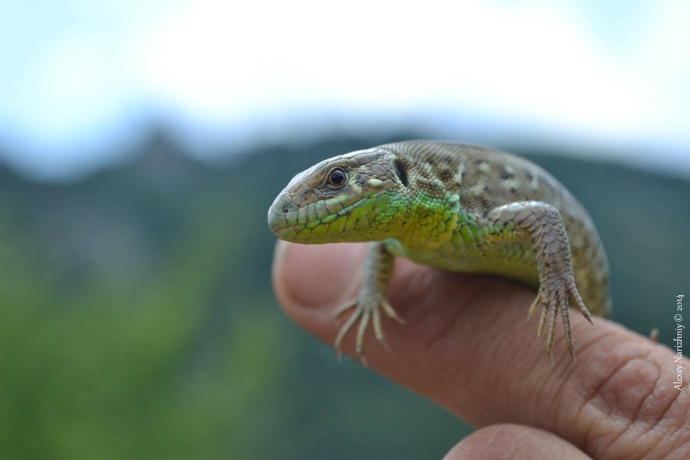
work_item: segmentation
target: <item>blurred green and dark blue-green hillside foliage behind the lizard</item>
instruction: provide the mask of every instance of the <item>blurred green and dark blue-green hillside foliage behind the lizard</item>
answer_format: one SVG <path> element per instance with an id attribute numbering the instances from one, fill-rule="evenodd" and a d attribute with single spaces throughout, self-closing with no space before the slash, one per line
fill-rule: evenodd
<path id="1" fill-rule="evenodd" d="M 316 161 L 388 140 L 264 146 L 210 168 L 157 134 L 132 163 L 61 185 L 0 167 L 0 456 L 442 457 L 468 426 L 335 362 L 270 287 L 277 192 Z M 615 319 L 671 343 L 690 184 L 531 157 L 598 223 Z"/>

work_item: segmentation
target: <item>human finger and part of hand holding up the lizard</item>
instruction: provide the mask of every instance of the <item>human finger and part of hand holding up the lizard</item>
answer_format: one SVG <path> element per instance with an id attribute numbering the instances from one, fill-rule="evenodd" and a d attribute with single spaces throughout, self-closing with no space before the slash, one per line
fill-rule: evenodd
<path id="1" fill-rule="evenodd" d="M 333 343 L 333 310 L 357 294 L 365 251 L 279 241 L 279 303 Z M 551 363 L 535 339 L 538 318 L 525 321 L 534 297 L 508 279 L 397 259 L 388 299 L 406 325 L 384 319 L 391 351 L 368 330 L 367 364 L 477 427 L 446 460 L 690 458 L 690 397 L 673 386 L 675 354 L 612 321 L 595 317 L 592 326 L 572 314 L 577 359 L 559 331 Z M 353 337 L 343 349 L 356 356 Z"/>

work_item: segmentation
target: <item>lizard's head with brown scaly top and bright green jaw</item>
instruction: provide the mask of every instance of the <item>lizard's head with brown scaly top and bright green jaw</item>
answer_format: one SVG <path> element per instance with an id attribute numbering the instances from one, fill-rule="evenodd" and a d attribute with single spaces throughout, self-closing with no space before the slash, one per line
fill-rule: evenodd
<path id="1" fill-rule="evenodd" d="M 378 241 L 395 237 L 391 221 L 409 208 L 404 166 L 373 148 L 300 172 L 273 201 L 268 228 L 297 243 Z"/>

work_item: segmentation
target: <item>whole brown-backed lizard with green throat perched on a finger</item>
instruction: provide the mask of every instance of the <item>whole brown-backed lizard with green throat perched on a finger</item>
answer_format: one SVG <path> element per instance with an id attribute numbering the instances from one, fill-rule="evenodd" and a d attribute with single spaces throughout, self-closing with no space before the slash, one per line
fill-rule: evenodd
<path id="1" fill-rule="evenodd" d="M 335 311 L 354 309 L 335 339 L 338 353 L 357 321 L 362 357 L 370 321 L 386 346 L 381 310 L 403 322 L 385 294 L 394 256 L 538 288 L 528 318 L 541 308 L 537 337 L 547 327 L 551 357 L 558 310 L 575 357 L 569 301 L 590 322 L 586 306 L 611 314 L 609 266 L 591 217 L 551 174 L 506 152 L 405 141 L 327 159 L 288 183 L 268 227 L 297 243 L 373 241 L 359 296 Z"/>

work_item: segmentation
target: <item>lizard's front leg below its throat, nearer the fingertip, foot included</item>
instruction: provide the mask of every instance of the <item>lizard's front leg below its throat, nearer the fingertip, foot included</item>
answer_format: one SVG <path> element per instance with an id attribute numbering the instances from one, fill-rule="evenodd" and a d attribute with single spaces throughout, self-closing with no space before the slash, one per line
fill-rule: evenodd
<path id="1" fill-rule="evenodd" d="M 335 337 L 333 346 L 338 358 L 340 357 L 340 347 L 344 337 L 357 321 L 359 321 L 359 326 L 357 328 L 355 351 L 365 364 L 364 332 L 366 332 L 369 321 L 371 320 L 373 323 L 376 338 L 386 349 L 388 346 L 386 346 L 386 338 L 381 326 L 381 309 L 383 308 L 389 317 L 404 323 L 403 319 L 393 310 L 391 304 L 388 303 L 388 299 L 386 299 L 386 286 L 388 286 L 388 280 L 391 279 L 391 274 L 393 273 L 393 261 L 393 254 L 386 249 L 384 243 L 369 244 L 364 262 L 362 289 L 359 290 L 356 299 L 344 303 L 335 310 L 335 318 L 337 319 L 347 310 L 355 309 L 342 328 L 340 328 L 337 337 Z"/>

